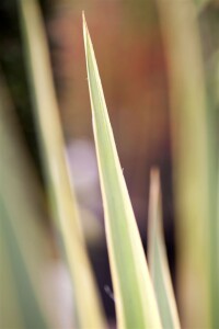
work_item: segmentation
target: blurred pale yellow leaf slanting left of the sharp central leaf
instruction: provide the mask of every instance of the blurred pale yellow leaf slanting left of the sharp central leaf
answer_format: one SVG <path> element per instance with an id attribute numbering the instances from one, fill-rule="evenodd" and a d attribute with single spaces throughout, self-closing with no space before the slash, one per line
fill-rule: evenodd
<path id="1" fill-rule="evenodd" d="M 80 328 L 105 328 L 65 155 L 48 45 L 37 2 L 20 0 L 35 120 L 51 209 L 68 260 Z"/>

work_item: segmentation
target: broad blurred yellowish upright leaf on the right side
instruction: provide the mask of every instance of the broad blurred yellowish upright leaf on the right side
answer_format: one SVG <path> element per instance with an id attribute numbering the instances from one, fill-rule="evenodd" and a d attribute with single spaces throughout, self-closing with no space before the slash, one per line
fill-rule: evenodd
<path id="1" fill-rule="evenodd" d="M 182 326 L 218 328 L 212 295 L 208 102 L 203 49 L 193 1 L 158 1 L 170 80 L 177 292 Z"/>

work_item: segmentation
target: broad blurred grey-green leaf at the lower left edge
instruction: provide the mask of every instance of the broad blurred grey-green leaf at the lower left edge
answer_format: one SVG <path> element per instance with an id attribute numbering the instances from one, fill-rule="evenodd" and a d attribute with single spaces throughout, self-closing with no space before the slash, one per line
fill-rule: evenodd
<path id="1" fill-rule="evenodd" d="M 48 245 L 41 193 L 1 80 L 0 327 L 43 329 L 49 327 L 42 291 Z"/>

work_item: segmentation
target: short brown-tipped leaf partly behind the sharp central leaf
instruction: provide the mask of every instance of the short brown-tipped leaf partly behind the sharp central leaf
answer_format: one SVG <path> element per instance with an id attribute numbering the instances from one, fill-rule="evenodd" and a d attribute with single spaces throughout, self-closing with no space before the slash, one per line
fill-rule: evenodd
<path id="1" fill-rule="evenodd" d="M 149 271 L 155 291 L 163 328 L 180 328 L 180 320 L 171 282 L 162 227 L 160 175 L 151 170 L 148 224 Z"/>

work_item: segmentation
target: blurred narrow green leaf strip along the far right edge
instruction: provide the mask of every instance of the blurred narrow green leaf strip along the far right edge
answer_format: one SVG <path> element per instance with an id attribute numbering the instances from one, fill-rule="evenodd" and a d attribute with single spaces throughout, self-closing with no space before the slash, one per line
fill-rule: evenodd
<path id="1" fill-rule="evenodd" d="M 211 311 L 215 328 L 219 327 L 219 139 L 218 139 L 218 105 L 219 105 L 219 52 L 215 52 L 210 59 L 210 69 L 207 71 L 208 82 L 208 155 L 210 175 L 210 285 Z"/>

